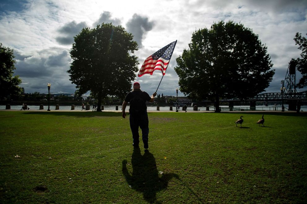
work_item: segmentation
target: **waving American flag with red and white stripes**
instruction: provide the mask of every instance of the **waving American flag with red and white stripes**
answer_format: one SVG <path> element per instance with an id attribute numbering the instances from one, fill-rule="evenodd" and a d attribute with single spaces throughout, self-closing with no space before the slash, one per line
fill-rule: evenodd
<path id="1" fill-rule="evenodd" d="M 171 60 L 176 42 L 177 40 L 147 57 L 137 76 L 141 77 L 144 74 L 152 75 L 154 70 L 161 70 L 164 76 L 168 63 Z"/>

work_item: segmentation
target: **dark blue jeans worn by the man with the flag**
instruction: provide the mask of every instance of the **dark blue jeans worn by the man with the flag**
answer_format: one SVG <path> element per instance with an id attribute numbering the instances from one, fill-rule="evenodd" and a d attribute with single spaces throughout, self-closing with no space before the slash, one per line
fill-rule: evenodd
<path id="1" fill-rule="evenodd" d="M 142 140 L 143 142 L 148 142 L 148 134 L 149 134 L 149 127 L 148 127 L 148 115 L 147 111 L 142 114 L 130 114 L 130 128 L 132 131 L 132 138 L 134 144 L 139 144 L 139 127 L 142 130 Z"/>

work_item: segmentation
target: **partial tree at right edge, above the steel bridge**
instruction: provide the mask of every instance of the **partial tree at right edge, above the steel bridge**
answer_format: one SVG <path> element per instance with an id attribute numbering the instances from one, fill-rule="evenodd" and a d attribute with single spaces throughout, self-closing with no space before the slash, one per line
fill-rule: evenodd
<path id="1" fill-rule="evenodd" d="M 307 39 L 301 33 L 296 33 L 294 41 L 300 46 L 297 49 L 302 51 L 301 58 L 296 59 L 296 68 L 303 75 L 297 86 L 303 88 L 307 86 Z"/>

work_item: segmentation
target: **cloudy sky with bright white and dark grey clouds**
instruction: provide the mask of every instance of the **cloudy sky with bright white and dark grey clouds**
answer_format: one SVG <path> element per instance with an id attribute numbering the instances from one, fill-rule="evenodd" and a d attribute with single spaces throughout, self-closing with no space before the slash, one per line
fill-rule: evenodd
<path id="1" fill-rule="evenodd" d="M 52 93 L 74 93 L 67 74 L 69 51 L 73 36 L 83 27 L 105 22 L 132 32 L 140 47 L 136 52 L 140 67 L 146 57 L 177 40 L 158 90 L 158 94 L 175 95 L 179 80 L 175 59 L 188 48 L 192 33 L 214 22 L 233 20 L 251 28 L 266 44 L 276 70 L 266 92 L 277 92 L 289 61 L 300 56 L 293 38 L 296 32 L 306 37 L 306 17 L 305 0 L 1 0 L 0 42 L 14 49 L 15 74 L 26 93 L 48 93 L 47 83 Z M 296 82 L 300 76 L 297 72 Z M 136 81 L 152 94 L 161 77 L 156 71 Z"/>

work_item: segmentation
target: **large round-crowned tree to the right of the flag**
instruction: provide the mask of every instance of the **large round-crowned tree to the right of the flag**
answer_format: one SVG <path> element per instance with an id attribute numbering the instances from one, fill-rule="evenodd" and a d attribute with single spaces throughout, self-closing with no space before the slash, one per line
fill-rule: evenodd
<path id="1" fill-rule="evenodd" d="M 269 86 L 275 70 L 267 48 L 249 28 L 228 21 L 192 34 L 177 61 L 180 91 L 190 98 L 253 97 Z"/>

